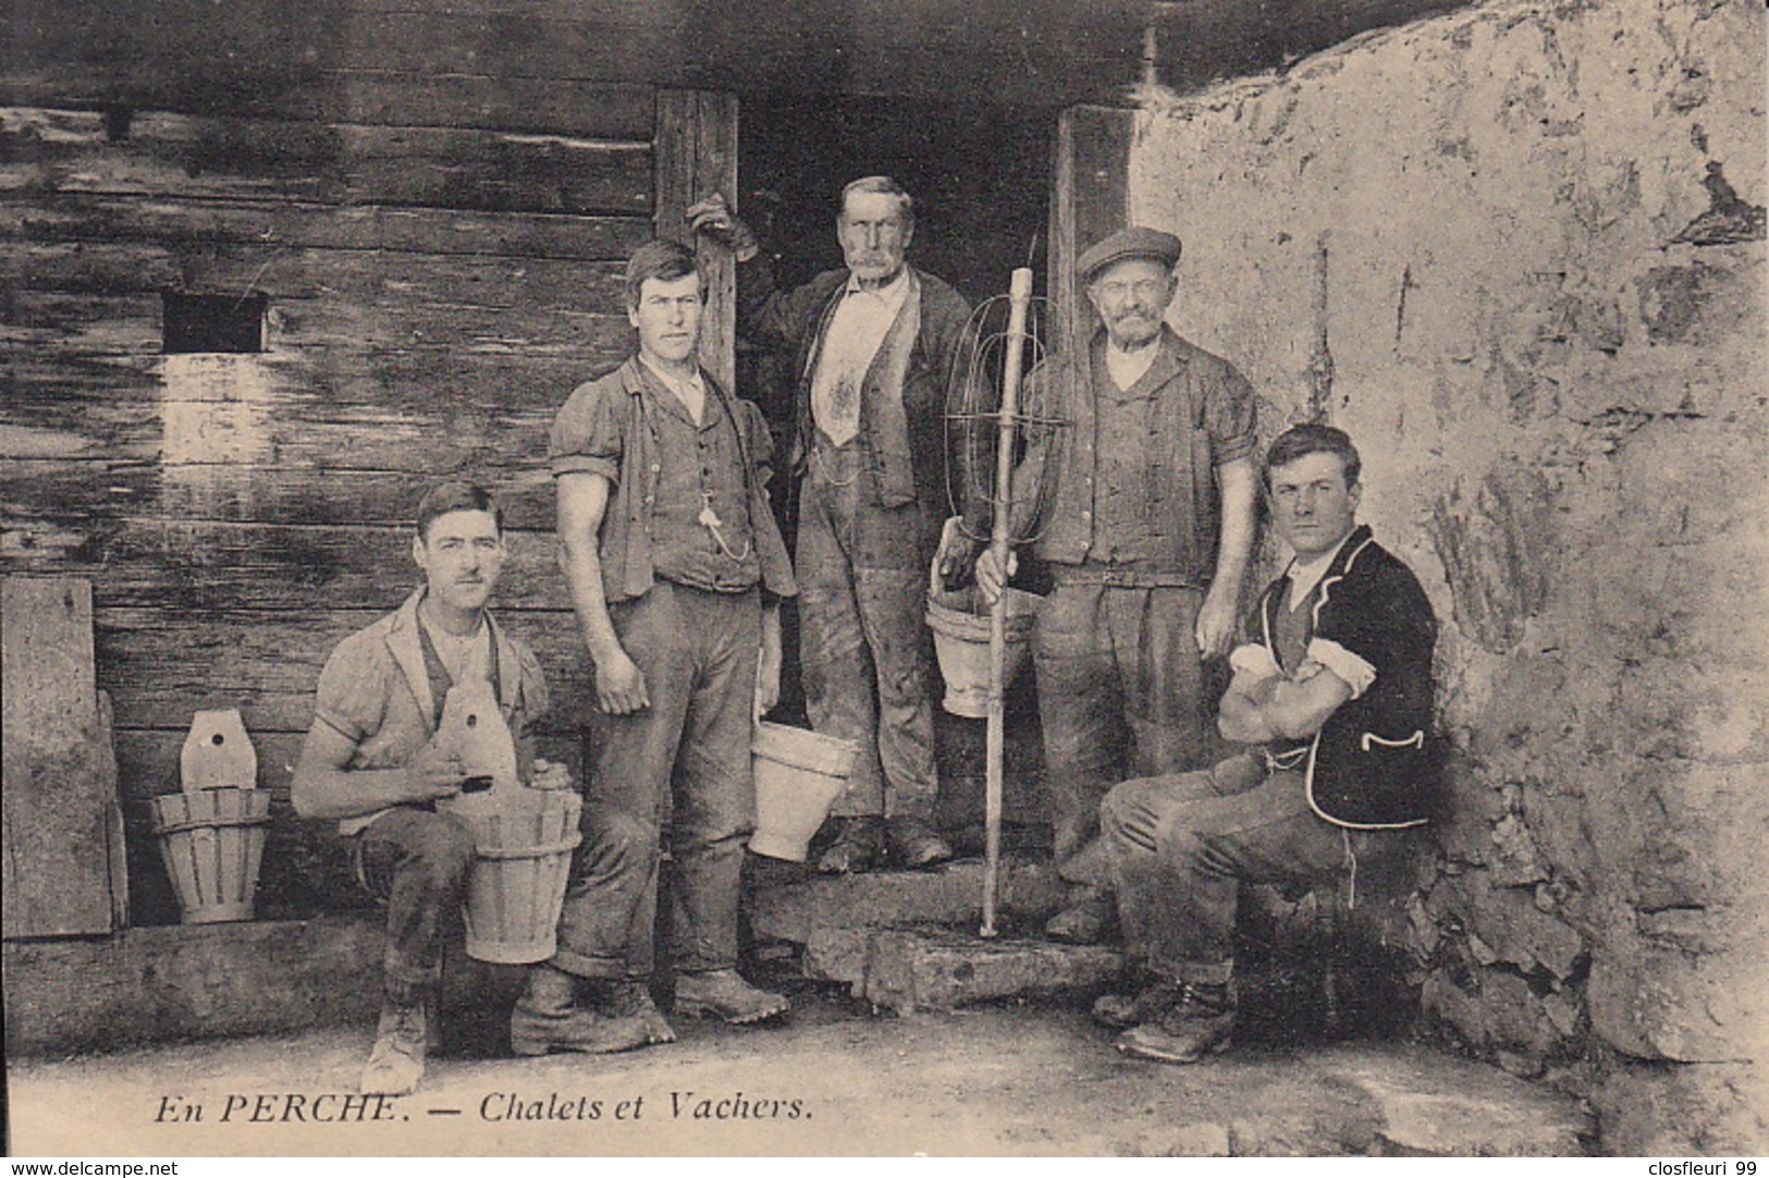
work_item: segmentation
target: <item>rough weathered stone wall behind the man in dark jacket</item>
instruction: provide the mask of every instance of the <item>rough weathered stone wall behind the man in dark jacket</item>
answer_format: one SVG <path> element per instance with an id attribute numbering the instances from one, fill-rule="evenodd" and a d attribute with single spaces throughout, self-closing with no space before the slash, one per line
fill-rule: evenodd
<path id="1" fill-rule="evenodd" d="M 1143 94 L 1175 325 L 1444 623 L 1426 1010 L 1606 1151 L 1769 1150 L 1764 9 L 1491 4 Z"/>

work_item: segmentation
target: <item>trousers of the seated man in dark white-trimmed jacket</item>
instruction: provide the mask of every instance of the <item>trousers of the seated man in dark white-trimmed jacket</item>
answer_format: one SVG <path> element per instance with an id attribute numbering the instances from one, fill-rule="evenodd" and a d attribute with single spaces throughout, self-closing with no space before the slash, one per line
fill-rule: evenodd
<path id="1" fill-rule="evenodd" d="M 1233 971 L 1242 883 L 1314 884 L 1405 853 L 1412 831 L 1336 826 L 1304 775 L 1242 753 L 1212 769 L 1123 782 L 1102 807 L 1125 945 L 1178 982 Z"/>

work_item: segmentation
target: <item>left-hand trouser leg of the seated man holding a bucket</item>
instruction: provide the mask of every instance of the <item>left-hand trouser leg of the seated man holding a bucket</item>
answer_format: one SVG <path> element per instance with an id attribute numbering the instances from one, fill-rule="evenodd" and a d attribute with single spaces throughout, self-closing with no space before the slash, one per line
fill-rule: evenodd
<path id="1" fill-rule="evenodd" d="M 387 902 L 387 998 L 414 1001 L 442 980 L 442 934 L 458 920 L 472 831 L 458 817 L 394 807 L 356 835 L 357 874 Z"/>

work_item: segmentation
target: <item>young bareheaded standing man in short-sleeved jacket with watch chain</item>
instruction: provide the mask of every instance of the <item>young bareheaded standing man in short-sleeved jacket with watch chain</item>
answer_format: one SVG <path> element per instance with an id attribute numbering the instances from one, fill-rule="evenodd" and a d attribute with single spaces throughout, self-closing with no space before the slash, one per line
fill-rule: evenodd
<path id="1" fill-rule="evenodd" d="M 699 363 L 704 276 L 672 241 L 626 264 L 639 356 L 554 419 L 559 555 L 596 665 L 582 886 L 559 957 L 591 1010 L 674 1031 L 653 1006 L 663 831 L 674 863 L 676 1014 L 732 1024 L 787 999 L 738 975 L 738 884 L 755 824 L 750 738 L 780 688 L 793 570 L 768 504 L 768 426 Z"/>

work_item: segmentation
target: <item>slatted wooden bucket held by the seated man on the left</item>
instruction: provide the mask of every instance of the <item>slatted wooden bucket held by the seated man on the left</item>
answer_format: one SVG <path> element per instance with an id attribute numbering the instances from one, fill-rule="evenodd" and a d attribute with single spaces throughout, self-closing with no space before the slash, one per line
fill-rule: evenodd
<path id="1" fill-rule="evenodd" d="M 527 966 L 554 955 L 582 810 L 570 789 L 499 789 L 449 805 L 478 856 L 467 876 L 467 957 Z"/>

